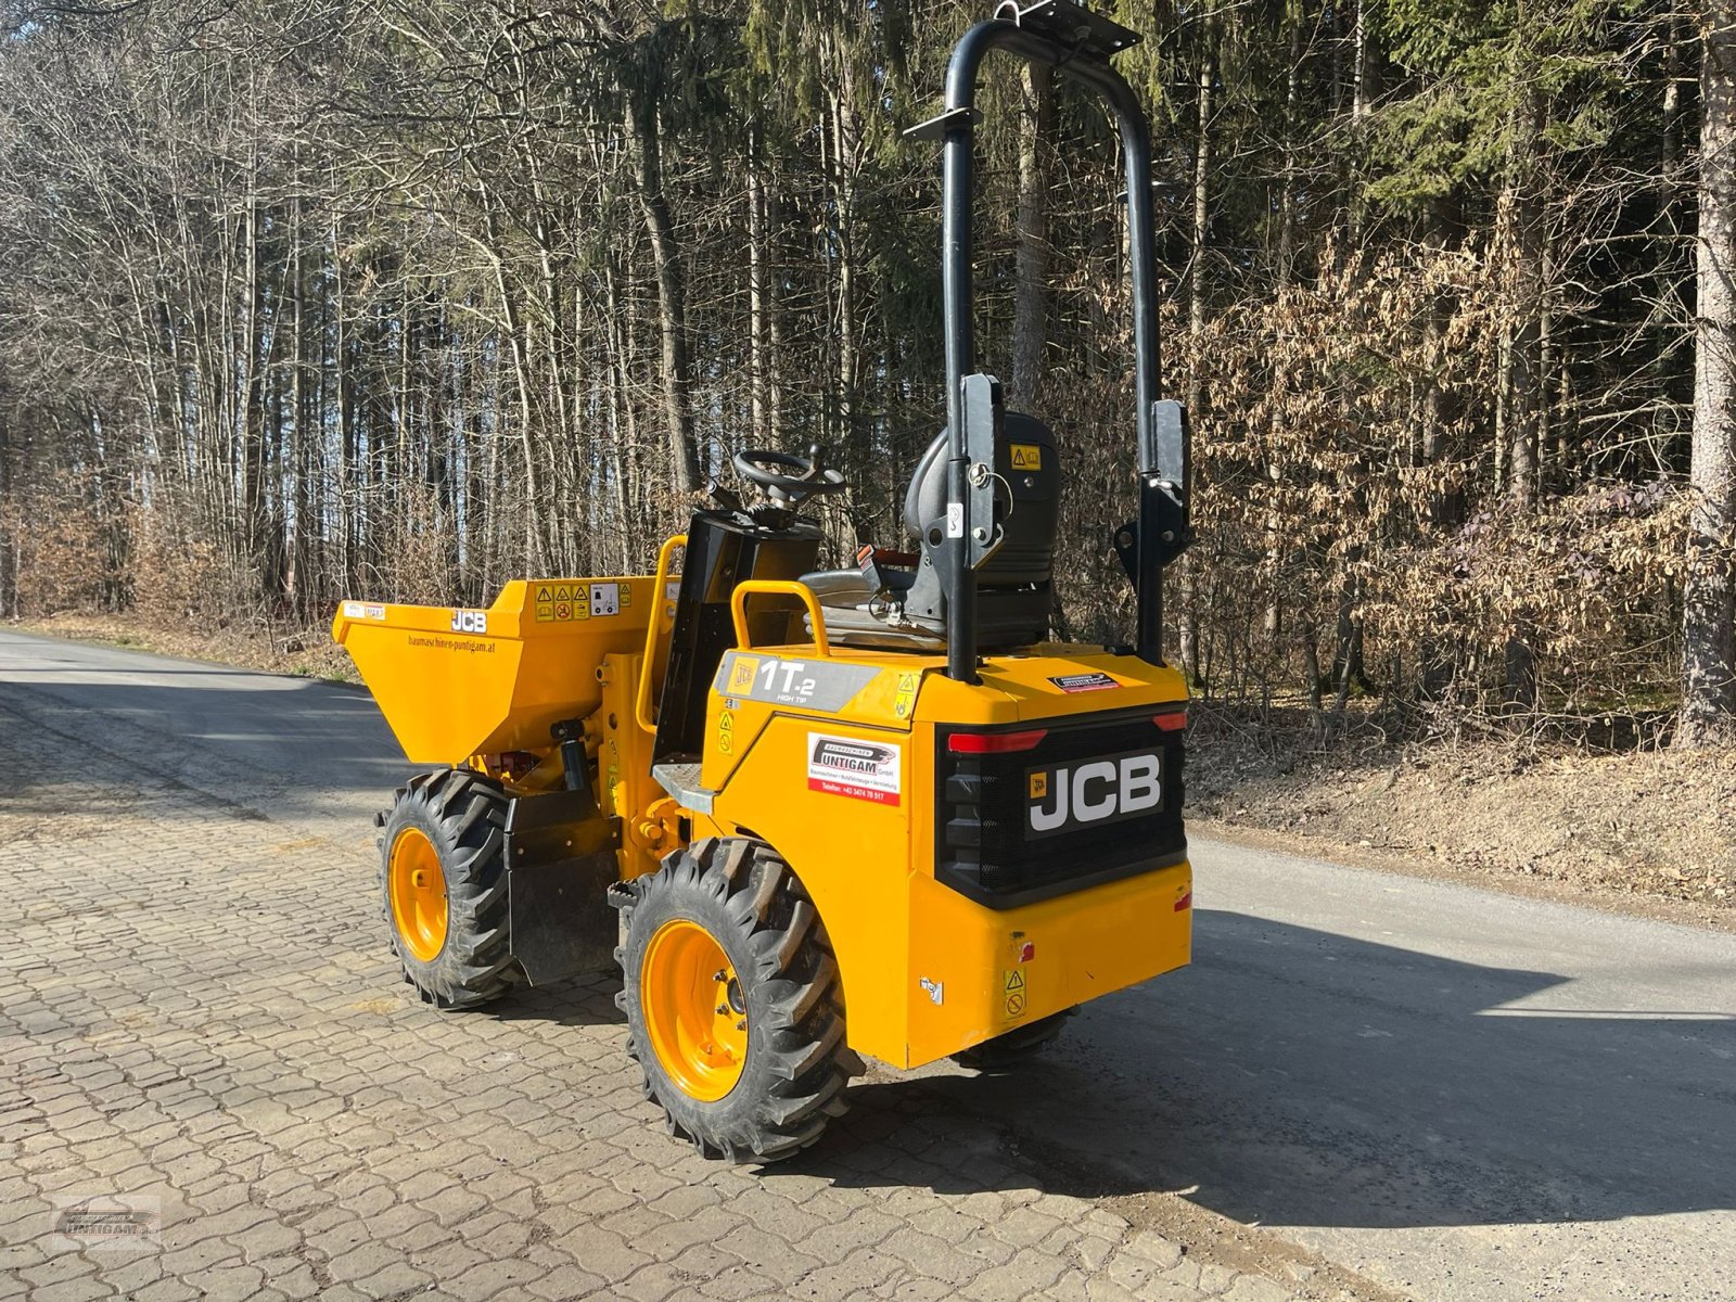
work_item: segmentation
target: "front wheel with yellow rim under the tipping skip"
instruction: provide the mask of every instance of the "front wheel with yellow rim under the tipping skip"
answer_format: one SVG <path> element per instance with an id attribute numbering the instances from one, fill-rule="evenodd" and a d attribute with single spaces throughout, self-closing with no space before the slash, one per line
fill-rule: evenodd
<path id="1" fill-rule="evenodd" d="M 470 1009 L 512 988 L 509 797 L 465 769 L 422 773 L 380 825 L 380 903 L 404 981 L 425 1003 Z"/>

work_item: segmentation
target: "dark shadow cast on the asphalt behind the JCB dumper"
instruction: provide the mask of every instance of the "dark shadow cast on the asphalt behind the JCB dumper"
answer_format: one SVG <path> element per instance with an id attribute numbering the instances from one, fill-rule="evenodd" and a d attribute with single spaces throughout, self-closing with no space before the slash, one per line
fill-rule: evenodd
<path id="1" fill-rule="evenodd" d="M 915 1118 L 991 1127 L 1052 1191 L 1179 1191 L 1243 1222 L 1736 1207 L 1736 1021 L 1578 1010 L 1549 998 L 1564 983 L 1201 910 L 1193 969 L 1088 1005 L 1019 1071 L 858 1085 L 842 1130 L 896 1149 Z M 800 1168 L 899 1179 L 826 1149 Z"/>

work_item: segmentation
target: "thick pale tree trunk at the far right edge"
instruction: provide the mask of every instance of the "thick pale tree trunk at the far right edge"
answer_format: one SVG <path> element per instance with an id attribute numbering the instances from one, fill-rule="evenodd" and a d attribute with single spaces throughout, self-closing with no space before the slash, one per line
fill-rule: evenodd
<path id="1" fill-rule="evenodd" d="M 1708 0 L 1705 23 L 1680 746 L 1736 734 L 1736 0 Z"/>

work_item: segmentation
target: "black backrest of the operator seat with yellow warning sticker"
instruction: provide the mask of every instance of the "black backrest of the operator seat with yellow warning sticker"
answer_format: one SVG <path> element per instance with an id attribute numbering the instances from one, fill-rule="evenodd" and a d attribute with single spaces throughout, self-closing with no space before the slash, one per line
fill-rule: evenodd
<path id="1" fill-rule="evenodd" d="M 1061 457 L 1055 436 L 1036 417 L 1009 411 L 995 451 L 995 521 L 1005 540 L 977 569 L 977 590 L 1047 585 L 1055 564 L 1055 529 L 1061 521 Z M 943 429 L 910 479 L 904 495 L 904 531 L 924 550 L 939 547 L 937 521 L 946 516 L 946 431 Z M 929 529 L 930 536 L 924 536 Z M 1047 608 L 1045 608 L 1047 609 Z"/>

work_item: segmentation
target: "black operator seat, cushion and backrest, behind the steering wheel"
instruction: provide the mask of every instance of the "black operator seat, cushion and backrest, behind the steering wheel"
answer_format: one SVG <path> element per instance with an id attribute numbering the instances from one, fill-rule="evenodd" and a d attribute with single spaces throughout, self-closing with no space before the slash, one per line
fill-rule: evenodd
<path id="1" fill-rule="evenodd" d="M 1055 436 L 1036 417 L 1009 411 L 995 470 L 995 524 L 1005 536 L 976 571 L 977 646 L 984 651 L 1049 637 L 1061 517 Z M 821 569 L 802 578 L 825 608 L 833 642 L 908 651 L 946 648 L 946 594 L 936 568 L 946 543 L 944 521 L 946 431 L 941 431 L 917 462 L 904 493 L 904 533 L 917 543 L 915 566 Z"/>

